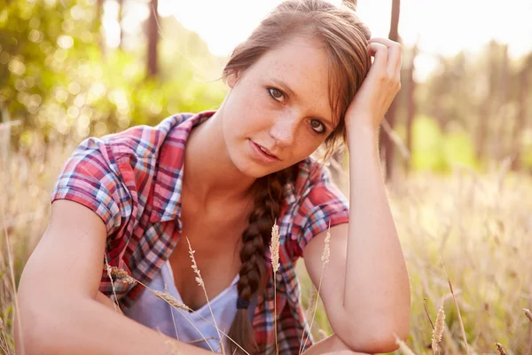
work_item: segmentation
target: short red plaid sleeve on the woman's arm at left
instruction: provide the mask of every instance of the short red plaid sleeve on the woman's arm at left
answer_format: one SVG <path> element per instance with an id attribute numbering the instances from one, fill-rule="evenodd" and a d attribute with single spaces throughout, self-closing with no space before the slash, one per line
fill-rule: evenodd
<path id="1" fill-rule="evenodd" d="M 51 193 L 51 202 L 69 200 L 92 209 L 106 224 L 107 235 L 121 226 L 131 210 L 131 197 L 123 184 L 111 146 L 88 138 L 67 159 Z"/>

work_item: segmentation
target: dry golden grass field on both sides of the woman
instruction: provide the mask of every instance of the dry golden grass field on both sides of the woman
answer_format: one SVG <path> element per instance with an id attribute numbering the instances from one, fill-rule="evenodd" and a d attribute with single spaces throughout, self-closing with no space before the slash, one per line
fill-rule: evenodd
<path id="1" fill-rule="evenodd" d="M 13 278 L 44 231 L 51 188 L 73 148 L 56 142 L 0 152 L 0 353 L 14 353 Z M 442 306 L 441 354 L 503 353 L 496 343 L 507 354 L 532 354 L 532 321 L 523 311 L 532 308 L 532 178 L 503 163 L 484 175 L 418 173 L 388 188 L 411 277 L 411 351 L 433 353 Z M 309 280 L 298 267 L 306 305 Z M 331 333 L 323 310 L 315 326 L 318 338 Z"/>

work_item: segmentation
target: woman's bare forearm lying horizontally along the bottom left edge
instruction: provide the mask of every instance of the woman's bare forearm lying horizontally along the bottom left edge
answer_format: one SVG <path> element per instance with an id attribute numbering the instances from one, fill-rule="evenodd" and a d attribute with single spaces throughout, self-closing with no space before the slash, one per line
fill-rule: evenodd
<path id="1" fill-rule="evenodd" d="M 22 339 L 32 354 L 208 354 L 142 326 L 93 299 L 22 300 Z M 20 341 L 20 339 L 19 339 Z"/>

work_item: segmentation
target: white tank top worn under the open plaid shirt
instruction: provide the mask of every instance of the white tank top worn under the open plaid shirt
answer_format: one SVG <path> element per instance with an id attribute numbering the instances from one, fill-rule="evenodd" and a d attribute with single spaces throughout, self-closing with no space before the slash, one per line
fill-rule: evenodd
<path id="1" fill-rule="evenodd" d="M 225 334 L 229 332 L 229 328 L 237 312 L 238 280 L 239 275 L 235 277 L 228 288 L 225 288 L 212 300 L 209 300 L 211 309 L 215 315 L 216 324 Z M 179 302 L 183 302 L 174 283 L 174 276 L 169 261 L 161 266 L 160 271 L 153 276 L 153 279 L 147 286 L 157 291 L 164 291 L 165 285 L 171 296 L 175 297 Z M 197 287 L 199 288 L 200 286 Z M 146 327 L 160 331 L 164 335 L 210 350 L 206 341 L 203 339 L 205 338 L 216 352 L 220 352 L 220 343 L 215 327 L 207 323 L 204 319 L 201 319 L 203 317 L 214 324 L 213 317 L 208 309 L 208 304 L 204 304 L 196 312 L 177 311 L 165 301 L 157 296 L 153 296 L 150 291 L 145 289 L 124 314 L 130 319 L 137 320 L 137 322 Z M 201 335 L 198 330 L 192 327 L 191 322 L 200 330 Z M 223 346 L 227 348 L 228 340 L 223 335 L 222 337 L 224 340 Z"/>

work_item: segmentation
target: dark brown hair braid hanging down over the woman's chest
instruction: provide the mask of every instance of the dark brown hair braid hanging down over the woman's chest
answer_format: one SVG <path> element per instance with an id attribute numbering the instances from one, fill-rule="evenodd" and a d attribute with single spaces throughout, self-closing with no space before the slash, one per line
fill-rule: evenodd
<path id="1" fill-rule="evenodd" d="M 284 198 L 284 185 L 292 177 L 297 165 L 278 171 L 255 182 L 254 210 L 249 215 L 249 225 L 242 233 L 240 250 L 240 278 L 237 284 L 239 298 L 249 302 L 251 297 L 262 292 L 267 283 L 266 248 L 270 245 L 271 226 L 279 216 Z M 257 351 L 254 331 L 246 309 L 237 310 L 228 335 L 248 352 Z M 229 343 L 230 353 L 239 351 Z"/>

